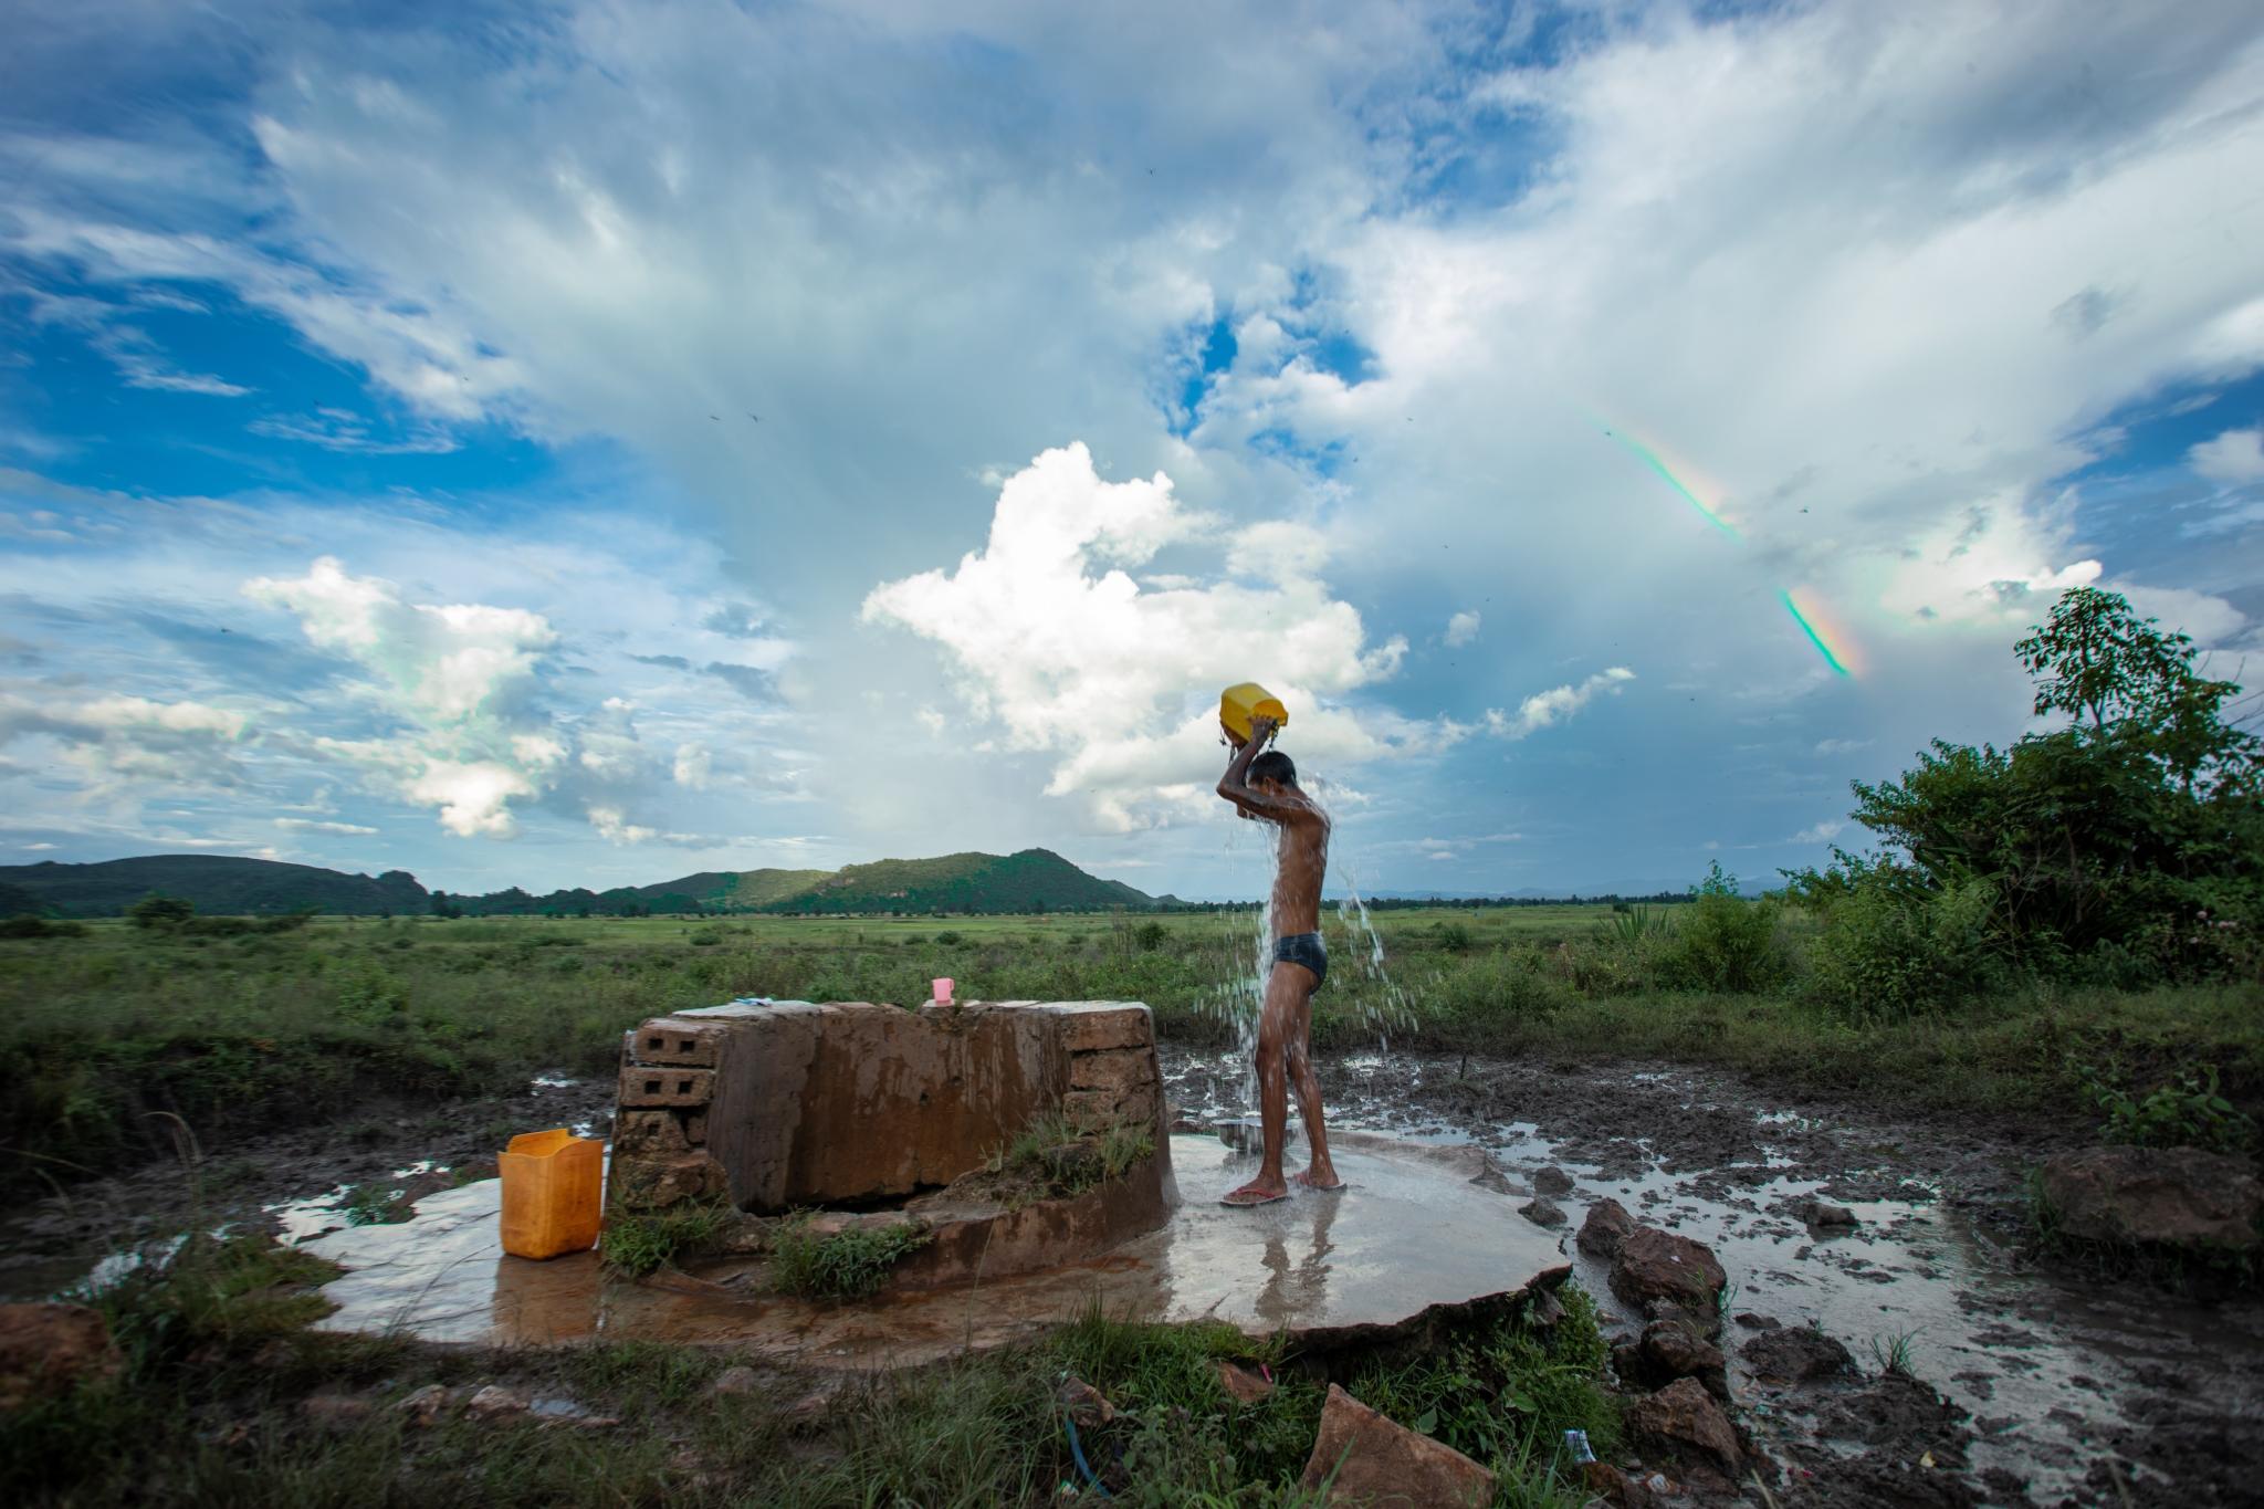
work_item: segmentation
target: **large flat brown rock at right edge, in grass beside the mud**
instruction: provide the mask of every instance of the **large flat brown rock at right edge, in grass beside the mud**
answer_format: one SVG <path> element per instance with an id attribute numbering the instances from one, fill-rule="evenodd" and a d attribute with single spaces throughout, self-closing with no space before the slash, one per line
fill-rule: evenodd
<path id="1" fill-rule="evenodd" d="M 2244 1158 L 2198 1147 L 2087 1147 L 2044 1163 L 2038 1192 L 2058 1235 L 2083 1242 L 2253 1251 L 2264 1183 Z"/>

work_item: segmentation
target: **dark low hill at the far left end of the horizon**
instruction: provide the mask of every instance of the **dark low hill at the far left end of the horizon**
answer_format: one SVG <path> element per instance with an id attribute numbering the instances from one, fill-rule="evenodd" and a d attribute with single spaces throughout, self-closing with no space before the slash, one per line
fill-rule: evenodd
<path id="1" fill-rule="evenodd" d="M 423 912 L 417 876 L 389 869 L 376 880 L 312 864 L 242 860 L 235 855 L 143 855 L 100 864 L 9 864 L 0 887 L 25 891 L 36 909 L 59 916 L 118 916 L 149 891 L 186 896 L 199 912 L 247 916 L 258 912 Z M 5 894 L 5 891 L 0 891 Z M 14 903 L 11 903 L 14 905 Z"/>

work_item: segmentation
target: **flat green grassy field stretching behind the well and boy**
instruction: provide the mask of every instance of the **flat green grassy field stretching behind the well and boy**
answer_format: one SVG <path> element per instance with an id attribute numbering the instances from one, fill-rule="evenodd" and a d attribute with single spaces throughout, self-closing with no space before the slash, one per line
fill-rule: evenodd
<path id="1" fill-rule="evenodd" d="M 1750 903 L 1746 903 L 1750 905 Z M 1707 989 L 1689 907 L 1485 907 L 1327 919 L 1315 1043 L 1673 1059 L 1786 1090 L 1933 1109 L 2078 1109 L 2085 1077 L 2149 1088 L 2214 1063 L 2264 1090 L 2255 986 L 2026 986 L 1956 1011 L 1850 1016 L 1802 993 L 1804 914 L 1752 914 L 1766 986 Z M 321 919 L 297 932 L 136 930 L 0 941 L 0 1176 L 68 1181 L 158 1147 L 177 1113 L 229 1136 L 609 1072 L 638 1020 L 738 995 L 1143 1000 L 1159 1032 L 1229 1043 L 1257 916 Z M 1748 971 L 1750 973 L 1750 971 Z M 1693 984 L 1696 982 L 1696 984 Z"/>

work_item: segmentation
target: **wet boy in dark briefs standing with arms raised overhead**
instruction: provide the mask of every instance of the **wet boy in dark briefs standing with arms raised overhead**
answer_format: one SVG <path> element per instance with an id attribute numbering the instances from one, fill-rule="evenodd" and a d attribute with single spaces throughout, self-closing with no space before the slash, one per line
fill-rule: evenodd
<path id="1" fill-rule="evenodd" d="M 1329 1133 L 1320 1115 L 1320 1077 L 1313 1072 L 1313 991 L 1329 973 L 1329 950 L 1320 941 L 1320 880 L 1329 871 L 1329 817 L 1297 790 L 1297 767 L 1279 749 L 1268 751 L 1275 719 L 1250 719 L 1250 740 L 1234 731 L 1234 760 L 1218 781 L 1218 794 L 1243 817 L 1268 821 L 1281 833 L 1275 855 L 1272 896 L 1272 971 L 1266 975 L 1266 1004 L 1259 1011 L 1259 1124 L 1266 1133 L 1266 1158 L 1259 1176 L 1225 1197 L 1227 1206 L 1270 1206 L 1288 1199 L 1281 1176 L 1281 1142 L 1288 1133 L 1288 1088 L 1297 1086 L 1297 1115 L 1304 1118 L 1304 1140 L 1313 1161 L 1297 1183 L 1311 1190 L 1343 1190 L 1329 1163 Z"/>

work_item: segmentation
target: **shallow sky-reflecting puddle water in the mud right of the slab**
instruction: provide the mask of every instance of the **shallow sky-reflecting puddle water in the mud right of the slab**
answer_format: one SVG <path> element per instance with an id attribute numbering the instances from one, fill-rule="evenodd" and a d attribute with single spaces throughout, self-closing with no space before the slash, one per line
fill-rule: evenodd
<path id="1" fill-rule="evenodd" d="M 1632 1075 L 1660 1081 L 1669 1075 Z M 1684 1106 L 1689 1109 L 1689 1106 Z M 1585 1206 L 1603 1197 L 1623 1204 L 1639 1222 L 1705 1242 L 1730 1274 L 1727 1314 L 1752 1312 L 1784 1326 L 1816 1326 L 1877 1373 L 1897 1339 L 1909 1346 L 1911 1371 L 1963 1407 L 1974 1423 L 1972 1471 L 2004 1468 L 2029 1482 L 2038 1502 L 2090 1493 L 2085 1473 L 2103 1450 L 2101 1437 L 2146 1428 L 2149 1387 L 2142 1373 L 2178 1376 L 2198 1355 L 2255 1355 L 2264 1351 L 2264 1319 L 2244 1310 L 2228 1335 L 2228 1312 L 2185 1305 L 2142 1290 L 2060 1292 L 2044 1278 L 2010 1271 L 1990 1242 L 1940 1204 L 1936 1181 L 1888 1165 L 1847 1163 L 1832 1176 L 1802 1179 L 1786 1170 L 1813 1167 L 1773 1142 L 1773 1133 L 1827 1131 L 1818 1120 L 1770 1111 L 1752 1115 L 1755 1149 L 1730 1163 L 1666 1172 L 1644 1138 L 1621 1145 L 1641 1152 L 1641 1167 L 1598 1165 L 1560 1152 L 1533 1122 L 1474 1122 L 1467 1131 L 1408 1115 L 1381 1095 L 1361 1095 L 1331 1129 L 1367 1127 L 1415 1142 L 1476 1140 L 1524 1183 L 1542 1165 L 1573 1174 L 1571 1195 L 1558 1204 L 1571 1215 L 1560 1247 L 1580 1283 L 1607 1312 L 1632 1328 L 1639 1317 L 1610 1294 L 1610 1265 L 1578 1251 L 1571 1233 Z M 1825 1235 L 1793 1210 L 1838 1181 L 1888 1181 L 1895 1199 L 1834 1199 L 1859 1226 Z M 1832 1199 L 1832 1197 L 1825 1197 Z M 1736 1357 L 1755 1333 L 1725 1326 L 1732 1391 L 1746 1405 L 1764 1448 L 1802 1434 L 1784 1419 L 1775 1389 L 1759 1385 Z M 1850 1452 L 1861 1443 L 1832 1443 Z"/>

